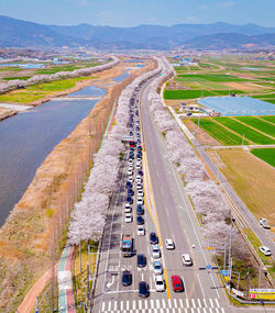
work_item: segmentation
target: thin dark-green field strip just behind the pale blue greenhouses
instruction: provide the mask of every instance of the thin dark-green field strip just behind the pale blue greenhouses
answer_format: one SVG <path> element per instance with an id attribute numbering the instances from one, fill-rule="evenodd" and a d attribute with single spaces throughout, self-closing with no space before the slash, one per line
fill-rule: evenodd
<path id="1" fill-rule="evenodd" d="M 243 93 L 240 90 L 231 90 L 233 93 Z M 228 90 L 164 90 L 165 99 L 196 99 L 210 96 L 228 96 Z"/>

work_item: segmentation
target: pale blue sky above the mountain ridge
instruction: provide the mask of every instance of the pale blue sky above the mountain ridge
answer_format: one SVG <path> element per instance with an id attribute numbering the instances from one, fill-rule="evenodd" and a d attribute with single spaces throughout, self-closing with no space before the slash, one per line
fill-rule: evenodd
<path id="1" fill-rule="evenodd" d="M 0 0 L 0 14 L 55 25 L 255 23 L 275 26 L 275 0 Z"/>

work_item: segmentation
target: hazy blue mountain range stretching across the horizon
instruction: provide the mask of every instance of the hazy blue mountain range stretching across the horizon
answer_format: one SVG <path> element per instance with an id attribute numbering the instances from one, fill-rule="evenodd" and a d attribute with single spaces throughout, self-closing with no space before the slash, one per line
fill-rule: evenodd
<path id="1" fill-rule="evenodd" d="M 275 27 L 255 24 L 177 24 L 111 27 L 80 24 L 43 25 L 0 15 L 0 47 L 96 47 L 101 49 L 169 49 L 240 47 L 246 43 L 271 46 Z M 230 41 L 227 41 L 227 36 Z M 262 36 L 262 37 L 261 37 Z"/>

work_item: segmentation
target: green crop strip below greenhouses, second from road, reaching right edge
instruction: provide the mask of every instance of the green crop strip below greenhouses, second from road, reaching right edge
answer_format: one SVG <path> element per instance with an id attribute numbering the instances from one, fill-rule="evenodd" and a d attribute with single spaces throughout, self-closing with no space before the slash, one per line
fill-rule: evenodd
<path id="1" fill-rule="evenodd" d="M 261 144 L 261 145 L 272 145 L 275 144 L 275 141 L 230 119 L 230 118 L 215 118 L 215 120 L 222 125 L 227 126 L 228 128 L 234 131 L 235 133 L 240 134 L 241 136 L 244 134 L 245 138 L 249 141 Z"/>

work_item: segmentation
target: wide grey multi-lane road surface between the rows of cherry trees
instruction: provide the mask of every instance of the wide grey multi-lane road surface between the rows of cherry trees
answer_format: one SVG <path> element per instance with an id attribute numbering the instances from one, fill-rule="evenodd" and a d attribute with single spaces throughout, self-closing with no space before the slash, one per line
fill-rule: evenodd
<path id="1" fill-rule="evenodd" d="M 207 265 L 213 266 L 211 255 L 205 249 L 207 243 L 204 241 L 194 210 L 184 192 L 179 176 L 167 158 L 162 135 L 151 119 L 148 90 L 150 82 L 136 98 L 140 98 L 141 103 L 140 115 L 144 138 L 143 170 L 147 164 L 152 185 L 150 197 L 155 208 L 146 206 L 148 210 L 144 219 L 145 236 L 136 235 L 135 203 L 132 205 L 133 222 L 124 222 L 124 183 L 128 171 L 124 157 L 119 174 L 118 190 L 112 197 L 102 239 L 92 312 L 238 312 L 239 309 L 228 305 L 217 271 L 205 269 Z M 152 210 L 155 214 L 152 214 Z M 148 241 L 148 234 L 153 231 L 158 232 L 160 237 L 161 261 L 166 282 L 164 292 L 156 292 L 154 286 L 152 267 L 154 259 Z M 125 258 L 121 254 L 122 234 L 131 234 L 134 237 L 135 254 L 131 258 Z M 163 246 L 166 238 L 175 242 L 175 250 L 167 250 Z M 183 266 L 180 259 L 183 253 L 191 255 L 193 267 Z M 138 254 L 146 256 L 147 265 L 143 269 L 136 267 Z M 121 284 L 121 273 L 125 269 L 133 276 L 130 287 Z M 184 292 L 173 291 L 172 275 L 182 277 Z M 139 282 L 143 280 L 150 286 L 150 298 L 146 299 L 139 297 Z"/>

